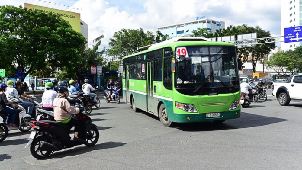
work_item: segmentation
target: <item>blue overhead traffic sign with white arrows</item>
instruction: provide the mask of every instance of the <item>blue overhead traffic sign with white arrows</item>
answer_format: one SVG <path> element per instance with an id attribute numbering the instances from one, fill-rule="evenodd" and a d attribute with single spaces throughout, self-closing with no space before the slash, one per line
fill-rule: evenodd
<path id="1" fill-rule="evenodd" d="M 284 28 L 284 42 L 292 43 L 302 41 L 302 26 Z"/>

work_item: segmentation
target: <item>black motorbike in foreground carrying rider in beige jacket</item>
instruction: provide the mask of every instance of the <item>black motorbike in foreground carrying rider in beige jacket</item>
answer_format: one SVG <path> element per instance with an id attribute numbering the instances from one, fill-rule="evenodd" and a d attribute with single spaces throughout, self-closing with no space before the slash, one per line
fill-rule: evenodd
<path id="1" fill-rule="evenodd" d="M 74 119 L 74 117 L 72 117 Z M 50 156 L 51 153 L 77 145 L 94 146 L 98 142 L 97 126 L 85 111 L 76 115 L 76 119 L 85 121 L 85 140 L 73 140 L 69 136 L 69 127 L 63 123 L 50 120 L 31 121 L 34 128 L 25 148 L 30 146 L 31 155 L 37 159 Z"/>

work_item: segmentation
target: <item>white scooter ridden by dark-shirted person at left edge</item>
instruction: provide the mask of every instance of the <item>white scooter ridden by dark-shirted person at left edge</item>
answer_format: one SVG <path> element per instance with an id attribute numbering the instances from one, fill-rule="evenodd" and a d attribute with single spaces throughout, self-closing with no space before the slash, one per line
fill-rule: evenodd
<path id="1" fill-rule="evenodd" d="M 18 101 L 18 99 L 13 98 L 9 101 Z M 9 106 L 7 106 L 7 107 L 9 107 Z M 15 111 L 17 111 L 17 116 L 16 116 L 16 120 L 14 123 L 17 126 L 16 127 L 8 126 L 8 130 L 19 129 L 22 132 L 27 132 L 27 131 L 31 130 L 31 126 L 29 125 L 29 123 L 31 121 L 31 115 L 26 113 L 26 110 L 24 109 L 24 107 L 22 107 L 20 104 L 12 103 L 11 108 L 14 109 Z M 0 116 L 2 117 L 3 120 L 6 120 L 6 117 L 7 117 L 6 114 L 1 113 Z"/>

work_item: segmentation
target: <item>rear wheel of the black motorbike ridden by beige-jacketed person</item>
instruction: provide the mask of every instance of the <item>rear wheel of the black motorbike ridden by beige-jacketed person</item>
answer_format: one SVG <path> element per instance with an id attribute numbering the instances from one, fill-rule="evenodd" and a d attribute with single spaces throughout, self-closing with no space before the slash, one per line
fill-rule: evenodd
<path id="1" fill-rule="evenodd" d="M 31 155 L 37 159 L 42 159 L 48 157 L 52 151 L 43 150 L 40 148 L 40 143 L 42 141 L 51 143 L 51 140 L 45 136 L 38 136 L 36 137 L 33 142 L 31 143 Z"/>

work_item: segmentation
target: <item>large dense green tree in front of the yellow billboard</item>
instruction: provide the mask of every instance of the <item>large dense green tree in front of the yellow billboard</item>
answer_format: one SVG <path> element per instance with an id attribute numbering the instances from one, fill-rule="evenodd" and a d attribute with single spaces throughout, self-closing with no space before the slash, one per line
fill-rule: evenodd
<path id="1" fill-rule="evenodd" d="M 84 49 L 85 37 L 59 15 L 21 6 L 0 7 L 1 68 L 27 66 L 27 75 L 49 64 L 74 73 Z"/>

